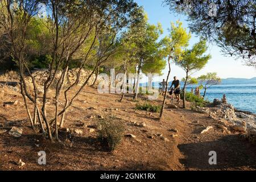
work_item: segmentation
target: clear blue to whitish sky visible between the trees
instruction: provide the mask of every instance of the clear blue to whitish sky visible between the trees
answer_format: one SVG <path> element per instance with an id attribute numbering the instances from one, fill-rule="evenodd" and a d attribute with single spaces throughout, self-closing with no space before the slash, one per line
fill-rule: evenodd
<path id="1" fill-rule="evenodd" d="M 148 22 L 150 24 L 161 23 L 164 33 L 162 38 L 168 35 L 168 28 L 171 22 L 181 20 L 184 27 L 188 27 L 188 22 L 185 16 L 171 13 L 167 6 L 162 5 L 162 0 L 135 0 L 138 5 L 143 6 L 148 15 Z M 190 45 L 199 41 L 199 38 L 192 34 L 192 38 L 189 42 Z M 256 69 L 248 67 L 242 63 L 242 60 L 234 59 L 234 57 L 224 56 L 221 52 L 221 48 L 214 45 L 214 43 L 208 42 L 208 53 L 212 55 L 212 59 L 208 61 L 208 64 L 199 72 L 196 72 L 192 77 L 198 77 L 208 72 L 217 72 L 221 78 L 252 78 L 256 77 Z M 168 73 L 168 67 L 164 69 L 163 76 L 160 76 L 160 80 L 166 78 Z M 183 69 L 172 64 L 171 78 L 177 76 L 180 80 L 185 77 Z M 143 78 L 143 81 L 145 78 Z"/>

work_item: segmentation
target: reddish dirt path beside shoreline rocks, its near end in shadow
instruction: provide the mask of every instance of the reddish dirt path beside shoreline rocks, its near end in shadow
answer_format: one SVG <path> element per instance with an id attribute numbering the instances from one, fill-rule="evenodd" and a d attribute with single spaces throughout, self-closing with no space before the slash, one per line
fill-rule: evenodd
<path id="1" fill-rule="evenodd" d="M 188 170 L 255 170 L 256 146 L 241 139 L 238 134 L 223 134 L 216 121 L 192 111 L 181 110 L 186 114 L 183 136 L 177 147 L 185 158 L 180 159 Z M 197 122 L 199 121 L 199 122 Z M 200 134 L 206 126 L 213 130 Z M 216 151 L 217 165 L 209 165 L 208 155 Z"/>

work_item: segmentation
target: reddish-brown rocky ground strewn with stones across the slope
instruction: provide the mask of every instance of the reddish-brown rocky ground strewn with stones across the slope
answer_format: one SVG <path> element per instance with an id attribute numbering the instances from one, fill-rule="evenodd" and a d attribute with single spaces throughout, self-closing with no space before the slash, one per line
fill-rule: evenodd
<path id="1" fill-rule="evenodd" d="M 181 103 L 177 109 L 166 109 L 159 121 L 158 113 L 135 110 L 137 102 L 130 95 L 120 103 L 119 94 L 99 94 L 88 86 L 67 114 L 60 133 L 63 146 L 32 131 L 16 86 L 0 88 L 0 170 L 256 169 L 255 115 L 228 104 L 191 110 L 181 109 Z M 160 104 L 161 100 L 150 102 Z M 138 102 L 146 98 L 140 96 Z M 49 97 L 51 109 L 53 98 Z M 109 115 L 126 129 L 126 137 L 113 152 L 97 142 L 97 122 Z M 46 151 L 46 166 L 38 164 L 39 151 Z M 216 165 L 208 162 L 210 151 L 216 151 Z"/>

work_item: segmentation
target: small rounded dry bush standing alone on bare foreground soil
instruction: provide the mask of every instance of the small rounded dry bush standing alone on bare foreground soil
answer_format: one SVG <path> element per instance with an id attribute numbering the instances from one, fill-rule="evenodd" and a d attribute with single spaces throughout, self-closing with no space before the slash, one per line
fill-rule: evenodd
<path id="1" fill-rule="evenodd" d="M 111 151 L 115 150 L 119 143 L 121 143 L 124 125 L 117 118 L 101 119 L 98 122 L 98 140 L 102 144 L 108 144 Z"/>

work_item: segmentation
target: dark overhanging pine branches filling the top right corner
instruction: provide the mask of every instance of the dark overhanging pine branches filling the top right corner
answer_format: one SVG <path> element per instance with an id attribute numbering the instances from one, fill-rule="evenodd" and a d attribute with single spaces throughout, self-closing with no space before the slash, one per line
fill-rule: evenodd
<path id="1" fill-rule="evenodd" d="M 192 32 L 215 41 L 230 56 L 256 66 L 255 0 L 164 0 L 164 3 L 172 12 L 188 16 Z"/>

